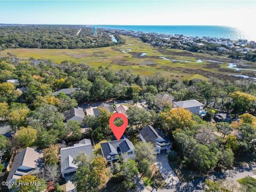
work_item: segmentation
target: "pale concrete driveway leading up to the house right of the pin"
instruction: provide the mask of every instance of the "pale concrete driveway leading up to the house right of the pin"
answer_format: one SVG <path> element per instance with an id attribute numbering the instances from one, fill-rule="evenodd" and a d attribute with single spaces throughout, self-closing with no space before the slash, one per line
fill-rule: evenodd
<path id="1" fill-rule="evenodd" d="M 179 178 L 172 170 L 172 167 L 169 165 L 166 153 L 158 154 L 155 164 L 166 182 L 166 188 L 170 188 L 180 182 Z"/>

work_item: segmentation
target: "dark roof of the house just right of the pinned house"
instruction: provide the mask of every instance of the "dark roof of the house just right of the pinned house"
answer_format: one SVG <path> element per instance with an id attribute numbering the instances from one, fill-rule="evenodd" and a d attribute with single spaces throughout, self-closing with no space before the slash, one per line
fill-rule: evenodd
<path id="1" fill-rule="evenodd" d="M 160 130 L 155 129 L 153 126 L 147 125 L 144 127 L 140 134 L 142 135 L 143 139 L 145 139 L 146 142 L 156 143 L 157 142 L 164 142 L 169 141 L 167 136 L 163 134 Z"/>

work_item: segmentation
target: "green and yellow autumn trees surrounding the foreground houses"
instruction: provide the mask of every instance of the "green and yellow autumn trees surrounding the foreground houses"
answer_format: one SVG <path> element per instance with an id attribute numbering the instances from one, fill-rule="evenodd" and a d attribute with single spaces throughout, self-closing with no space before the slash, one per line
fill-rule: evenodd
<path id="1" fill-rule="evenodd" d="M 141 76 L 134 75 L 130 70 L 121 69 L 115 72 L 108 67 L 92 68 L 84 63 L 71 61 L 63 61 L 60 65 L 42 60 L 20 61 L 14 55 L 0 60 L 0 70 L 0 117 L 2 121 L 11 125 L 14 132 L 17 132 L 8 141 L 1 136 L 0 139 L 3 140 L 1 149 L 11 148 L 10 151 L 18 151 L 29 146 L 50 150 L 58 156 L 58 150 L 54 146 L 62 140 L 72 143 L 85 137 L 100 141 L 111 134 L 108 125 L 111 114 L 107 110 L 100 109 L 99 117 L 85 117 L 84 122 L 91 128 L 85 135 L 81 133 L 79 123 L 64 122 L 63 111 L 83 103 L 105 102 L 109 99 L 132 100 L 133 103 L 145 100 L 151 110 L 137 106 L 127 110 L 129 127 L 125 134 L 137 148 L 143 150 L 147 148 L 141 146 L 136 138 L 139 131 L 150 124 L 162 129 L 172 139 L 173 148 L 168 154 L 169 159 L 186 169 L 206 174 L 230 169 L 241 158 L 255 161 L 256 85 L 254 83 L 242 81 L 231 83 L 217 78 L 211 78 L 209 81 L 201 79 L 178 81 L 162 77 L 159 73 L 154 76 Z M 8 79 L 18 79 L 18 83 L 6 82 Z M 17 90 L 20 87 L 26 87 L 27 91 L 20 92 Z M 65 94 L 52 95 L 54 91 L 68 87 L 76 87 L 78 90 L 70 97 Z M 157 93 L 170 94 L 175 101 L 196 99 L 204 103 L 206 116 L 202 119 L 186 109 L 171 108 L 167 105 L 164 106 L 163 111 L 157 111 L 154 106 Z M 233 118 L 239 118 L 240 121 L 213 124 L 212 118 L 217 112 L 228 113 Z M 138 171 L 150 177 L 148 162 L 153 162 L 154 158 L 151 158 L 152 154 L 150 157 L 144 154 L 143 158 L 149 158 L 148 162 L 145 162 L 139 154 L 140 152 L 136 160 L 138 168 L 132 160 L 113 165 L 127 166 L 131 169 L 131 172 L 125 170 L 129 172 L 127 173 L 113 168 L 113 177 L 122 178 L 120 181 L 123 182 L 125 190 L 134 188 L 132 178 Z M 5 158 L 6 156 L 8 154 L 5 154 Z M 58 164 L 58 158 L 55 156 L 46 159 Z M 85 174 L 90 175 L 90 171 L 84 170 L 83 166 L 87 160 L 78 157 L 76 161 L 81 165 L 78 166 L 81 171 L 74 178 L 77 188 L 82 190 L 86 187 L 87 191 L 90 191 L 93 186 L 95 187 L 95 183 L 84 186 L 82 182 Z M 100 165 L 99 170 L 106 167 L 104 160 L 99 157 L 95 157 L 93 162 L 90 167 L 94 164 Z M 90 177 L 95 177 L 96 182 L 100 175 L 95 174 L 96 176 L 90 175 Z M 99 182 L 98 186 L 103 186 L 104 181 L 99 180 Z"/>

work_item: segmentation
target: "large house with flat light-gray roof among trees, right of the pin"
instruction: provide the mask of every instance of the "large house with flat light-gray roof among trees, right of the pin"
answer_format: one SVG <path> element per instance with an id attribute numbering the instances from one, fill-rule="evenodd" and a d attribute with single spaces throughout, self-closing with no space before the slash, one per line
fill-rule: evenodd
<path id="1" fill-rule="evenodd" d="M 203 103 L 192 99 L 187 101 L 177 101 L 173 103 L 174 107 L 182 107 L 189 110 L 191 113 L 199 116 L 205 116 L 205 110 L 203 109 Z"/>

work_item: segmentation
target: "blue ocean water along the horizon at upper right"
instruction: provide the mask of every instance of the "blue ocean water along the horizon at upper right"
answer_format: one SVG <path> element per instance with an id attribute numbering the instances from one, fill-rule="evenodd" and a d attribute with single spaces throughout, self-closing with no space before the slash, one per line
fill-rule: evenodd
<path id="1" fill-rule="evenodd" d="M 197 37 L 218 37 L 231 40 L 256 40 L 256 36 L 246 35 L 246 31 L 227 26 L 135 26 L 135 25 L 95 25 L 98 28 L 124 29 L 161 34 L 182 34 Z"/>

